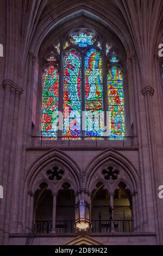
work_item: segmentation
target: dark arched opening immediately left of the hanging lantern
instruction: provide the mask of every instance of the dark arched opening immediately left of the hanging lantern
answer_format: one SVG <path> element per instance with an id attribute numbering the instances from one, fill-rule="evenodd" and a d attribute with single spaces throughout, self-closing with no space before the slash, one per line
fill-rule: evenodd
<path id="1" fill-rule="evenodd" d="M 75 197 L 68 182 L 65 182 L 58 192 L 56 224 L 57 233 L 74 232 Z"/>

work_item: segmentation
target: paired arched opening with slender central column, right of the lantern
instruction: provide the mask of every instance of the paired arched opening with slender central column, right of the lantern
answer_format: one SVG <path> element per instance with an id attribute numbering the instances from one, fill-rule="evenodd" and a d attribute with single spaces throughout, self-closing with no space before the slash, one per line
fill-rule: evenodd
<path id="1" fill-rule="evenodd" d="M 132 203 L 126 184 L 120 182 L 115 193 L 98 182 L 92 192 L 91 224 L 93 233 L 133 231 Z"/>

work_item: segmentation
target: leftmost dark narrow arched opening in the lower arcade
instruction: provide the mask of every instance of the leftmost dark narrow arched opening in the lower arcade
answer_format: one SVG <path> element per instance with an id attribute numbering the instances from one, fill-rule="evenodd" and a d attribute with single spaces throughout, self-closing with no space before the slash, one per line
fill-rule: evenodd
<path id="1" fill-rule="evenodd" d="M 49 233 L 52 229 L 53 197 L 43 182 L 34 196 L 34 223 L 36 233 Z"/>

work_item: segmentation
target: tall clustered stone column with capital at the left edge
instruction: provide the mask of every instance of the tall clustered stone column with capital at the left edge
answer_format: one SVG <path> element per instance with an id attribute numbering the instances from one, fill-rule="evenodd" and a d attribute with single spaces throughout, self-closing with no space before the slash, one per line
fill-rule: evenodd
<path id="1" fill-rule="evenodd" d="M 4 185 L 4 198 L 1 202 L 1 232 L 0 243 L 2 244 L 2 230 L 4 232 L 3 244 L 8 244 L 10 229 L 10 213 L 12 202 L 12 177 L 15 165 L 15 144 L 17 133 L 17 116 L 19 110 L 20 95 L 22 88 L 11 80 L 3 81 L 4 108 L 3 123 L 1 127 L 1 150 L 2 164 L 0 164 L 0 181 Z"/>

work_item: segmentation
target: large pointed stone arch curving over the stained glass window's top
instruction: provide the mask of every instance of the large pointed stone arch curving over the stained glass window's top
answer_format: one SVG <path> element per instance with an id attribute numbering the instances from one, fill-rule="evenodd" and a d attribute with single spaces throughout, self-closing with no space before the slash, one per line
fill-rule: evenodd
<path id="1" fill-rule="evenodd" d="M 71 8 L 70 5 L 64 9 L 62 8 L 57 20 L 55 19 L 57 7 L 55 7 L 55 14 L 53 14 L 53 9 L 50 12 L 53 19 L 49 13 L 43 17 L 30 44 L 30 52 L 33 52 L 35 56 L 37 56 L 42 41 L 46 38 L 48 33 L 52 31 L 52 29 L 57 28 L 66 22 L 68 23 L 69 27 L 70 25 L 71 27 L 74 27 L 76 26 L 74 20 L 76 20 L 76 17 L 79 17 L 80 19 L 80 16 L 85 16 L 86 18 L 89 17 L 94 23 L 102 24 L 106 28 L 108 27 L 109 30 L 113 31 L 118 36 L 129 55 L 134 52 L 133 43 L 127 29 L 125 28 L 125 25 L 122 26 L 122 20 L 120 17 L 118 17 L 118 15 L 113 13 L 112 10 L 108 10 L 109 15 L 106 15 L 106 13 L 104 14 L 103 10 L 101 10 L 101 13 L 99 13 L 99 7 L 96 6 L 95 2 L 93 2 L 93 9 L 91 3 L 74 3 L 73 6 L 74 8 Z M 42 27 L 44 29 L 42 29 Z"/>

